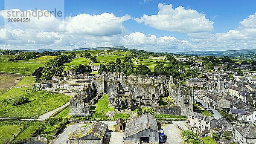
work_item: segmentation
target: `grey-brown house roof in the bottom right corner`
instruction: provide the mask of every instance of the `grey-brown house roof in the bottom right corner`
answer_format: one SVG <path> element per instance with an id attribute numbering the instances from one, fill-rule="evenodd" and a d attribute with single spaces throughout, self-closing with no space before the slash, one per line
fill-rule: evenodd
<path id="1" fill-rule="evenodd" d="M 248 124 L 235 129 L 244 136 L 244 138 L 256 138 L 256 127 L 253 124 Z"/>

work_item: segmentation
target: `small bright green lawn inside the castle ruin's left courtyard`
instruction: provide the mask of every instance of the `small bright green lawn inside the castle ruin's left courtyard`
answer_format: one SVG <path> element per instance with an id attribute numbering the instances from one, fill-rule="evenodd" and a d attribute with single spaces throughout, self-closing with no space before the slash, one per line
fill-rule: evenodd
<path id="1" fill-rule="evenodd" d="M 107 113 L 108 111 L 114 111 L 114 107 L 108 107 L 108 95 L 103 95 L 101 99 L 94 105 L 95 113 Z"/>

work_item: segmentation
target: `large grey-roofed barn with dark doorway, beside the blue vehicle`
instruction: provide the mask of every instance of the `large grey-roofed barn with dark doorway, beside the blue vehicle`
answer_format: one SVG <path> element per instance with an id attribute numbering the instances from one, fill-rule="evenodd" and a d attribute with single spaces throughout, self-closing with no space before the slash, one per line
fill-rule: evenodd
<path id="1" fill-rule="evenodd" d="M 145 113 L 127 121 L 124 143 L 159 144 L 159 132 L 154 115 Z"/>

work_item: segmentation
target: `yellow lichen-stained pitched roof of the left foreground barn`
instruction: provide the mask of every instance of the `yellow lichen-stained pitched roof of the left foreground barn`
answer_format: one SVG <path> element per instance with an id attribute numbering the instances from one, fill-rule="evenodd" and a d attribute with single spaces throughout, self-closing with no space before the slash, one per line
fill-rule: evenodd
<path id="1" fill-rule="evenodd" d="M 79 128 L 79 130 L 72 132 L 68 140 L 82 138 L 87 135 L 93 135 L 93 136 L 96 136 L 97 138 L 102 139 L 107 130 L 108 130 L 107 124 L 104 124 L 100 121 L 96 121 L 88 125 L 87 127 L 81 127 Z"/>

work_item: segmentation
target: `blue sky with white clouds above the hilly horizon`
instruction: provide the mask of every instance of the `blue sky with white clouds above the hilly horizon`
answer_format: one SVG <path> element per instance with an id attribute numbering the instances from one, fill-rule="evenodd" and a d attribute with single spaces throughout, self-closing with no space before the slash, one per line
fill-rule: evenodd
<path id="1" fill-rule="evenodd" d="M 0 13 L 0 48 L 256 49 L 255 0 L 0 0 L 2 14 L 35 8 L 56 8 L 66 18 L 3 23 Z"/>

